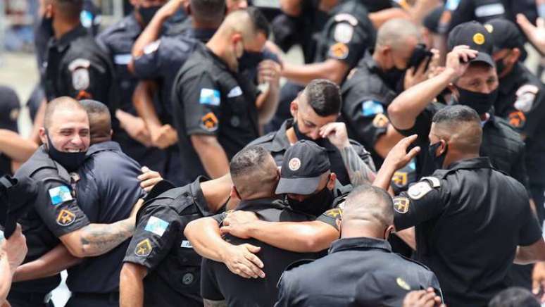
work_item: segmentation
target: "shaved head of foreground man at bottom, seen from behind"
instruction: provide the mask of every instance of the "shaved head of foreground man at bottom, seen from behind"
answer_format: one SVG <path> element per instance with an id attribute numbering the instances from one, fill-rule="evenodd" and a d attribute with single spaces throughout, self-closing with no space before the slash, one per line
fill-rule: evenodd
<path id="1" fill-rule="evenodd" d="M 394 204 L 383 189 L 364 184 L 346 197 L 342 210 L 342 233 L 353 234 L 361 230 L 367 236 L 372 233 L 379 236 L 391 225 L 394 225 Z"/>

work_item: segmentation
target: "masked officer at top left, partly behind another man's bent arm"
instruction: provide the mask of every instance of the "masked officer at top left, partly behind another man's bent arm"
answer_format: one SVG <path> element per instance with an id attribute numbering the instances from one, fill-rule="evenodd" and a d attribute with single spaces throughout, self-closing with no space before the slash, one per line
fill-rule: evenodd
<path id="1" fill-rule="evenodd" d="M 165 0 L 132 1 L 134 11 L 111 25 L 96 37 L 96 42 L 106 51 L 115 68 L 116 82 L 120 89 L 120 105 L 115 116 L 120 127 L 113 137 L 127 155 L 151 169 L 163 171 L 164 153 L 151 145 L 149 132 L 132 105 L 132 94 L 138 79 L 127 68 L 130 63 L 132 45 L 149 23 L 153 13 Z"/>

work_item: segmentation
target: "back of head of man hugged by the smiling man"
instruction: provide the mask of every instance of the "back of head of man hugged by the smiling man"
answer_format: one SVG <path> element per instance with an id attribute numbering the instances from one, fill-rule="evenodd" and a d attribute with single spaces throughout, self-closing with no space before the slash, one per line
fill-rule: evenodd
<path id="1" fill-rule="evenodd" d="M 80 104 L 87 111 L 89 126 L 91 128 L 91 144 L 111 140 L 112 121 L 110 110 L 100 101 L 85 99 Z"/>

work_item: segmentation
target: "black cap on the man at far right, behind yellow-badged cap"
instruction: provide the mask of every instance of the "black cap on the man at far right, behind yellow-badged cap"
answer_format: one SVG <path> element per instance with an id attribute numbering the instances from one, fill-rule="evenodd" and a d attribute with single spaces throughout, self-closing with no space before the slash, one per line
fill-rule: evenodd
<path id="1" fill-rule="evenodd" d="M 487 21 L 484 27 L 494 39 L 494 51 L 501 49 L 524 49 L 524 35 L 518 30 L 518 27 L 503 18 L 494 18 Z"/>

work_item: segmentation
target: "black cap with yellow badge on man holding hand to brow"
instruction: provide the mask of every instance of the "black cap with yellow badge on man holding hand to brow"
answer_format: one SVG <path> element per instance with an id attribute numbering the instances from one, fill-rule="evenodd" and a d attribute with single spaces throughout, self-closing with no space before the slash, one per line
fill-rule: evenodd
<path id="1" fill-rule="evenodd" d="M 484 62 L 495 67 L 491 57 L 492 51 L 494 51 L 494 39 L 484 25 L 475 20 L 454 27 L 449 33 L 447 44 L 449 51 L 455 46 L 467 45 L 470 49 L 479 51 L 479 54 L 470 62 Z"/>

